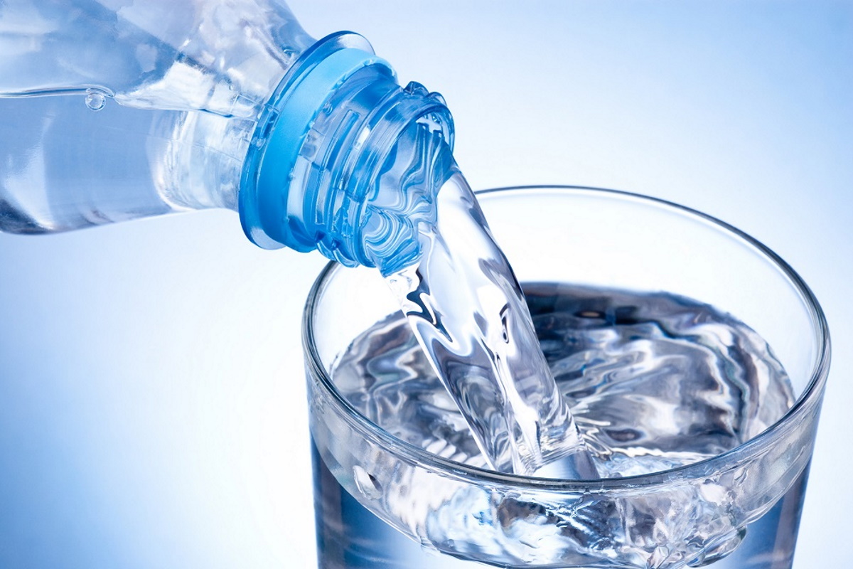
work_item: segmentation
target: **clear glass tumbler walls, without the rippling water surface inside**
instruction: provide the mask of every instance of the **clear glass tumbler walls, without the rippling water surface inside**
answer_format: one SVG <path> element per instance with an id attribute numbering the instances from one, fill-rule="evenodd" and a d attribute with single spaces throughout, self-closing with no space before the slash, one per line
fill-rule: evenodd
<path id="1" fill-rule="evenodd" d="M 304 322 L 320 566 L 790 568 L 829 366 L 827 323 L 804 282 L 738 229 L 668 202 L 572 187 L 479 200 L 520 282 L 712 305 L 767 340 L 796 403 L 733 450 L 659 473 L 568 481 L 456 462 L 368 420 L 341 385 L 351 374 L 333 373 L 398 309 L 375 271 L 329 264 Z"/>

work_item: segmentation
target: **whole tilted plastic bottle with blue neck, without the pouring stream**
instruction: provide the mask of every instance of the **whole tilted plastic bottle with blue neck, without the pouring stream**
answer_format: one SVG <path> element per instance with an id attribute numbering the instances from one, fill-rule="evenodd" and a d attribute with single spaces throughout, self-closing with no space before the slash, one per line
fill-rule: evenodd
<path id="1" fill-rule="evenodd" d="M 401 88 L 357 34 L 310 38 L 276 0 L 5 0 L 0 54 L 13 233 L 224 207 L 260 247 L 372 265 L 416 239 L 392 211 L 396 246 L 363 235 L 395 142 L 417 123 L 452 144 L 441 96 Z"/>

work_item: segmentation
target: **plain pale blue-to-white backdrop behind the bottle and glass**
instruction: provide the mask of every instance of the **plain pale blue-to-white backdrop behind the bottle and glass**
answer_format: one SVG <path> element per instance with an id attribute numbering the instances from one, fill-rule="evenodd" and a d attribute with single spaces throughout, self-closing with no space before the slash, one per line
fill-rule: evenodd
<path id="1" fill-rule="evenodd" d="M 853 3 L 290 6 L 441 91 L 474 188 L 674 200 L 804 276 L 835 353 L 795 566 L 849 566 Z M 322 264 L 230 212 L 0 235 L 0 567 L 314 566 L 299 318 Z"/>

